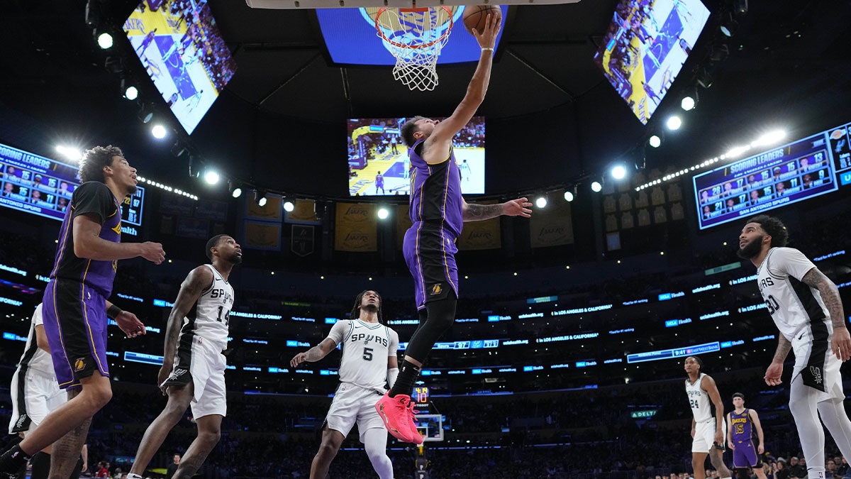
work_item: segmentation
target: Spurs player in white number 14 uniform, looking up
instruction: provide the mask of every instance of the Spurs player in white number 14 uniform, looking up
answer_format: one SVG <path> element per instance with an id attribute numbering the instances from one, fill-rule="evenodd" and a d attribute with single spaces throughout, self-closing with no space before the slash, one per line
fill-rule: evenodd
<path id="1" fill-rule="evenodd" d="M 243 250 L 227 234 L 207 242 L 212 264 L 192 269 L 180 285 L 165 333 L 163 367 L 157 384 L 168 395 L 163 412 L 148 426 L 136 452 L 129 479 L 140 479 L 168 431 L 191 407 L 198 436 L 186 450 L 174 478 L 191 477 L 219 442 L 221 420 L 227 413 L 225 355 L 233 307 L 231 269 L 243 262 Z"/>

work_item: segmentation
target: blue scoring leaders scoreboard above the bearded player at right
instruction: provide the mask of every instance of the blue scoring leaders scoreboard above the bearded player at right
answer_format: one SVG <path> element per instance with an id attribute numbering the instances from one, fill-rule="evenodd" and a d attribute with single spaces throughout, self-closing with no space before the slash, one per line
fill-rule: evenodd
<path id="1" fill-rule="evenodd" d="M 692 177 L 700 229 L 753 216 L 851 183 L 846 124 Z"/>

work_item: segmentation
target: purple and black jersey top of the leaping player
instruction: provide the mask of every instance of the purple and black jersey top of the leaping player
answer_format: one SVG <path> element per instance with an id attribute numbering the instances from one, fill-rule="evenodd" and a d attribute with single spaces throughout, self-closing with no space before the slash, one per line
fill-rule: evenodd
<path id="1" fill-rule="evenodd" d="M 455 153 L 450 147 L 446 160 L 428 164 L 420 156 L 423 141 L 417 141 L 408 150 L 411 158 L 408 215 L 414 225 L 424 222 L 441 227 L 454 240 L 464 228 L 461 217 L 464 200 L 461 198 L 461 176 L 458 164 L 455 164 Z"/>

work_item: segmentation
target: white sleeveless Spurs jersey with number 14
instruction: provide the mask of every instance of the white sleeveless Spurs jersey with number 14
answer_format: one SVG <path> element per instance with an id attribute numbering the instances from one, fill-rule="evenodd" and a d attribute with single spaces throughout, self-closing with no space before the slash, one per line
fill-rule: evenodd
<path id="1" fill-rule="evenodd" d="M 227 349 L 228 323 L 233 308 L 233 286 L 213 268 L 205 264 L 213 272 L 213 284 L 201 293 L 189 314 L 183 320 L 180 328 L 180 343 L 191 344 L 196 337 Z"/>

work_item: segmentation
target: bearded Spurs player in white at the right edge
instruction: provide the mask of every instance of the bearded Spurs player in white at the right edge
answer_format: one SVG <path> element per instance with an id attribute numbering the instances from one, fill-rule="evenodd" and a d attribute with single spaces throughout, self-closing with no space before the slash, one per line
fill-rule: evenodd
<path id="1" fill-rule="evenodd" d="M 843 361 L 851 358 L 851 336 L 845 326 L 837 286 L 795 248 L 787 248 L 789 234 L 774 216 L 754 216 L 739 235 L 739 257 L 757 267 L 762 299 L 780 340 L 765 383 L 782 381 L 783 361 L 795 351 L 789 389 L 789 411 L 795 418 L 809 477 L 825 476 L 824 423 L 837 447 L 851 457 L 851 421 L 842 401 Z M 821 421 L 819 421 L 821 416 Z"/>

